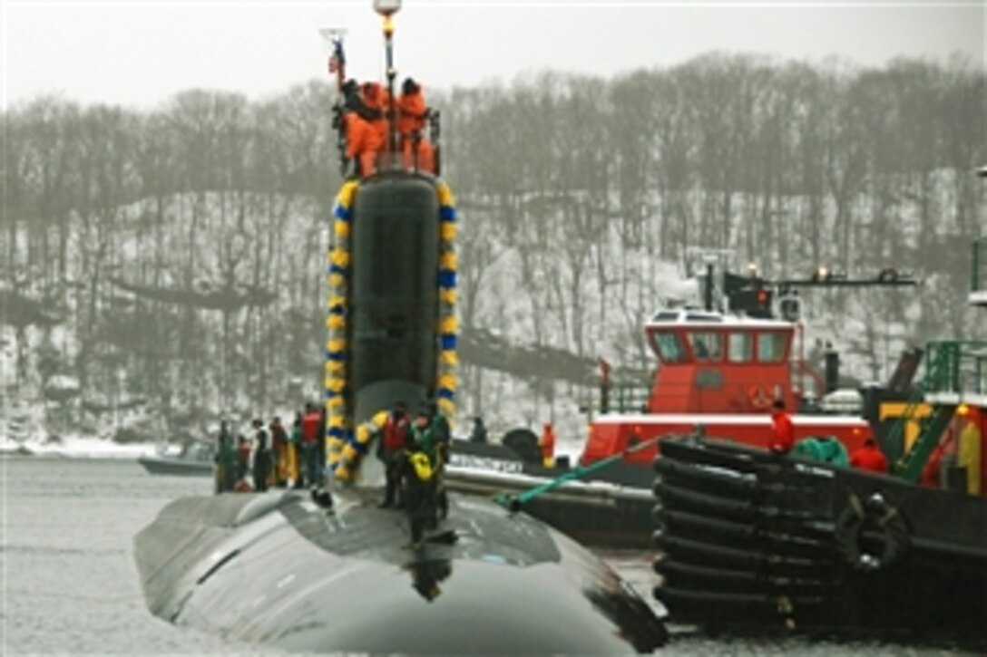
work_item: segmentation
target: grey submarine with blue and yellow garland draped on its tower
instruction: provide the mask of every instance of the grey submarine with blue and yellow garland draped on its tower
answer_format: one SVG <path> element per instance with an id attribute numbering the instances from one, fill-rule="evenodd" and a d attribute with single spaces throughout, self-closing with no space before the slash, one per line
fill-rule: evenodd
<path id="1" fill-rule="evenodd" d="M 390 99 L 400 6 L 374 2 Z M 342 37 L 333 44 L 342 91 Z M 288 651 L 651 652 L 668 638 L 651 608 L 540 521 L 450 492 L 445 517 L 414 540 L 408 514 L 378 507 L 384 472 L 370 455 L 388 409 L 432 402 L 452 418 L 456 400 L 456 213 L 439 177 L 438 116 L 418 114 L 399 134 L 395 105 L 370 156 L 351 143 L 355 110 L 345 100 L 334 109 L 342 165 L 355 171 L 337 199 L 327 270 L 327 482 L 166 505 L 134 538 L 146 606 L 178 626 Z"/>

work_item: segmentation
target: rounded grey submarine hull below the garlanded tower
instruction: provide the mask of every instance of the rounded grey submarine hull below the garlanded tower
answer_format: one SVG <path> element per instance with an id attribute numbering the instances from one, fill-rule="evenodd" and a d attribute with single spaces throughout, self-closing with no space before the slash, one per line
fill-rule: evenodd
<path id="1" fill-rule="evenodd" d="M 135 538 L 156 616 L 297 651 L 648 652 L 666 640 L 645 602 L 562 534 L 491 502 L 409 547 L 376 498 L 327 513 L 299 492 L 187 497 Z"/>

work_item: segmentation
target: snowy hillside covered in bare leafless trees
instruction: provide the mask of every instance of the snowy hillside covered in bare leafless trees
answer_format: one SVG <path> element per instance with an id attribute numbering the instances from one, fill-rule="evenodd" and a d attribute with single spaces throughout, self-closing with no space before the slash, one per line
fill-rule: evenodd
<path id="1" fill-rule="evenodd" d="M 490 354 L 464 354 L 466 413 L 509 416 L 505 390 L 522 387 L 548 404 L 524 413 L 546 416 L 582 395 L 600 355 L 648 369 L 641 323 L 681 293 L 691 247 L 769 277 L 825 264 L 923 278 L 809 299 L 813 317 L 857 327 L 846 337 L 872 363 L 891 327 L 895 348 L 985 334 L 963 301 L 967 245 L 987 232 L 987 185 L 970 174 L 987 162 L 987 81 L 967 62 L 715 54 L 425 91 L 462 218 L 464 338 L 574 357 L 493 375 Z M 5 397 L 48 391 L 75 422 L 137 404 L 174 425 L 315 394 L 341 182 L 333 100 L 312 82 L 261 102 L 196 90 L 148 113 L 58 98 L 5 112 Z M 66 378 L 78 395 L 52 384 Z"/>

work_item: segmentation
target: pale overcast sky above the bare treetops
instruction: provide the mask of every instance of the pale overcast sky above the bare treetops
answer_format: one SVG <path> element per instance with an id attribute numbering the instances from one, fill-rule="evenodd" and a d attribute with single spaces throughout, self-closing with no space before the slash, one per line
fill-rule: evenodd
<path id="1" fill-rule="evenodd" d="M 191 88 L 256 99 L 327 76 L 322 27 L 343 27 L 349 72 L 377 77 L 380 19 L 361 2 L 3 2 L 4 107 L 55 93 L 152 108 Z M 405 0 L 399 73 L 427 87 L 526 71 L 613 75 L 711 50 L 883 65 L 898 55 L 983 68 L 987 0 Z"/>

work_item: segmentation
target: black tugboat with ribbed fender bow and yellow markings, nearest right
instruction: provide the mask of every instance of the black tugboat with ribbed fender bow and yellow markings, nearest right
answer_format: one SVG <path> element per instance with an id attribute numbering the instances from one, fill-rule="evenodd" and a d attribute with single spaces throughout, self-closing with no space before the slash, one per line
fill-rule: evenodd
<path id="1" fill-rule="evenodd" d="M 969 301 L 987 307 L 987 239 Z M 654 596 L 707 627 L 957 632 L 987 640 L 987 342 L 928 345 L 881 437 L 890 474 L 717 440 L 661 442 Z M 911 435 L 907 425 L 917 427 Z"/>

